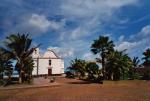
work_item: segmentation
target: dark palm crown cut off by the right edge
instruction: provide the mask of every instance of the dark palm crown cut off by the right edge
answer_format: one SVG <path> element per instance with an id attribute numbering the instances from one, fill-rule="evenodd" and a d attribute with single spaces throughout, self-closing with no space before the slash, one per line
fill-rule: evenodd
<path id="1" fill-rule="evenodd" d="M 145 67 L 150 67 L 150 48 L 146 49 L 146 51 L 143 53 L 144 57 L 143 57 L 143 60 L 144 60 L 144 63 L 143 65 Z"/>

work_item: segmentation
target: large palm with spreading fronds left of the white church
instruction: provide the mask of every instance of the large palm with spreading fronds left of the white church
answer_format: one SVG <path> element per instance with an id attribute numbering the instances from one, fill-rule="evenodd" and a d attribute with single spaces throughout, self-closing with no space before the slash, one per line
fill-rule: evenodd
<path id="1" fill-rule="evenodd" d="M 25 74 L 25 68 L 27 65 L 27 59 L 31 57 L 32 52 L 36 47 L 31 47 L 32 39 L 29 35 L 25 34 L 12 34 L 6 38 L 5 46 L 3 50 L 5 53 L 11 54 L 11 56 L 17 60 L 16 70 L 19 73 L 19 82 L 22 83 L 23 76 Z M 29 68 L 29 67 L 28 67 Z M 33 68 L 31 66 L 31 68 Z"/>

